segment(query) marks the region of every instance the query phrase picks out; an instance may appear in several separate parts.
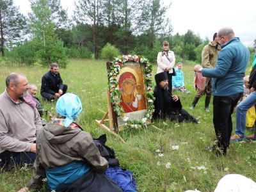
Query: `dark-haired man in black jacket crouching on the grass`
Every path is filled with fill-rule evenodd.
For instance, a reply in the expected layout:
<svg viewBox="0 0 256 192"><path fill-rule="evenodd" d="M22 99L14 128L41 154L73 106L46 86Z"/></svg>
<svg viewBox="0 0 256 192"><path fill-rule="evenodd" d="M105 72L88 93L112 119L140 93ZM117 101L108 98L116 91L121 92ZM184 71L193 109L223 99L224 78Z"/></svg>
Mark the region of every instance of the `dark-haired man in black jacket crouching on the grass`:
<svg viewBox="0 0 256 192"><path fill-rule="evenodd" d="M49 72L42 77L41 95L46 100L54 100L54 96L59 98L67 92L68 86L63 84L58 70L58 64L52 63Z"/></svg>

